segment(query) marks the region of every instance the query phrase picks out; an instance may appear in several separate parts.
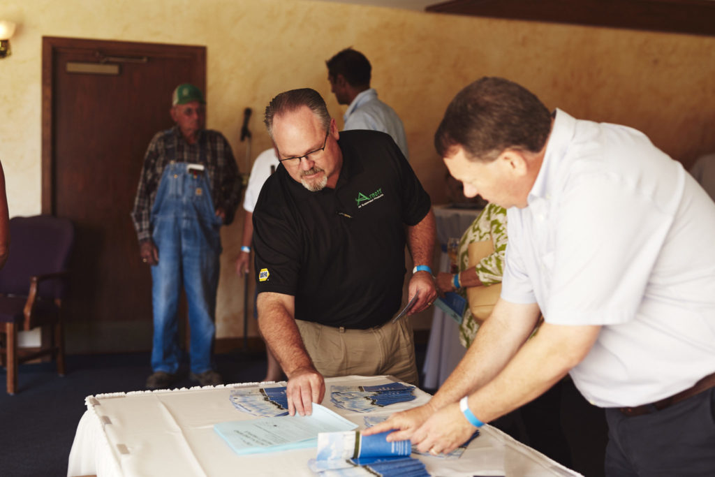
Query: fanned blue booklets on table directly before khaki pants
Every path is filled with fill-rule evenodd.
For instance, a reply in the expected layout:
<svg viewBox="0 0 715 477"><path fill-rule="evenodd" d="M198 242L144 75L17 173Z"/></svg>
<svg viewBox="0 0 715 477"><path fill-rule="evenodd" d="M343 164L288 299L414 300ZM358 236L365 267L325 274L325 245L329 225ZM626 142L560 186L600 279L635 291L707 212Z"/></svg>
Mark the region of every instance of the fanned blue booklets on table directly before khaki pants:
<svg viewBox="0 0 715 477"><path fill-rule="evenodd" d="M335 406L358 413L384 408L390 404L415 399L415 386L388 383L373 386L342 386L330 388L330 400Z"/></svg>

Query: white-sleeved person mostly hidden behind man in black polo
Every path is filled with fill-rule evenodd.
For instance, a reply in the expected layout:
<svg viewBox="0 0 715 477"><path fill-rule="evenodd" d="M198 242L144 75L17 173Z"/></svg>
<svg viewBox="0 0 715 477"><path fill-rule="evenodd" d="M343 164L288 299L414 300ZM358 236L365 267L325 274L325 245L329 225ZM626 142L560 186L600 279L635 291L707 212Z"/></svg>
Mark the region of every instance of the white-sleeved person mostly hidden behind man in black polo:
<svg viewBox="0 0 715 477"><path fill-rule="evenodd" d="M250 272L251 247L253 240L253 210L256 207L258 194L261 192L261 187L265 180L270 177L270 174L275 172L280 162L276 155L275 149L270 148L258 154L253 162L251 174L248 178L245 196L243 198L243 234L241 236L241 251L236 259L236 273L239 275L248 275ZM256 295L257 297L257 295ZM258 318L258 309L253 307L253 316ZM266 375L263 381L279 381L283 378L283 371L280 369L278 360L275 359L270 348L266 346Z"/></svg>

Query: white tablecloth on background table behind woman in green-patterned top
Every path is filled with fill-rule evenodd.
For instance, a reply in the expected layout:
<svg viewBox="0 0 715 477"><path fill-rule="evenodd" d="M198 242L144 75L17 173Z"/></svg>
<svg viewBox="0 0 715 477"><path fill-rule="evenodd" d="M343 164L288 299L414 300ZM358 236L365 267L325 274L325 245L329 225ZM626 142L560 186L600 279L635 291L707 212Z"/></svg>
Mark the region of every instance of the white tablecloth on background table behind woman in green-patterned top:
<svg viewBox="0 0 715 477"><path fill-rule="evenodd" d="M455 209L445 205L435 205L433 210L437 222L437 241L441 249L439 267L435 273L448 272L450 265L446 251L448 239L462 237L481 209ZM462 359L465 351L459 342L459 325L435 307L423 366L425 373L423 386L430 389L439 388Z"/></svg>

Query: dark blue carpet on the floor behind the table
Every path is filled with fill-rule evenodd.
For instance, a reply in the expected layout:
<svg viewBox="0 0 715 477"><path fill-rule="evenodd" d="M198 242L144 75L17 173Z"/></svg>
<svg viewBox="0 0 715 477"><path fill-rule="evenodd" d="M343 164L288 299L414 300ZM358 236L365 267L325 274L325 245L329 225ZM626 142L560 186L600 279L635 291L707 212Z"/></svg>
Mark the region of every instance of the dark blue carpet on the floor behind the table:
<svg viewBox="0 0 715 477"><path fill-rule="evenodd" d="M261 380L265 355L216 355L227 383ZM4 368L0 379L5 382ZM151 373L149 353L71 355L66 375L54 363L19 367L18 392L0 392L0 476L66 476L69 450L82 418L84 398L102 393L143 390ZM177 388L196 383L185 376Z"/></svg>

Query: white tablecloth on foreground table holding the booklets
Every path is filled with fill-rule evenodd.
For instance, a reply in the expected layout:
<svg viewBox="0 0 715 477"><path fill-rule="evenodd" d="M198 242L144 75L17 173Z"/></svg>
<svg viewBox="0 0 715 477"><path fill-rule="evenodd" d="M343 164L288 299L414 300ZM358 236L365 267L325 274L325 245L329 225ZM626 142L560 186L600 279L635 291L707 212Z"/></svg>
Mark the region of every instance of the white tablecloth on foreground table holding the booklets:
<svg viewBox="0 0 715 477"><path fill-rule="evenodd" d="M328 378L322 405L362 429L365 415L389 415L430 399L430 395L415 389L415 400L370 413L346 411L330 402L332 385L391 381L388 376ZM67 475L313 476L307 461L315 458L315 448L237 456L214 432L215 423L254 418L237 410L229 400L231 390L241 386L246 385L89 396L87 412L79 421L69 454ZM439 476L580 475L488 425L458 459L417 457L430 474Z"/></svg>

